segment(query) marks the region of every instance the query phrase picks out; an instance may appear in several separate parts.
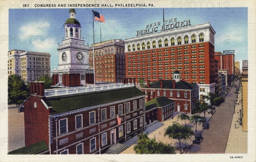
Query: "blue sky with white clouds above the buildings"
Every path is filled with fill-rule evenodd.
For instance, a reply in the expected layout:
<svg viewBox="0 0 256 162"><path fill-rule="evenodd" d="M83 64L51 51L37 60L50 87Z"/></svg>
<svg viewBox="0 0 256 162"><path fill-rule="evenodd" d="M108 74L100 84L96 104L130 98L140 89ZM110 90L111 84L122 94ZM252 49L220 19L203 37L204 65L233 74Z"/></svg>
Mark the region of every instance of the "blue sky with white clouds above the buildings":
<svg viewBox="0 0 256 162"><path fill-rule="evenodd" d="M95 9L94 9L95 10ZM105 16L106 23L95 23L96 42L126 39L145 29L150 23L163 21L162 8L96 9ZM235 49L235 61L247 60L247 8L164 9L166 19L190 19L191 25L209 22L215 30L215 51ZM58 43L64 37L64 23L70 17L69 9L10 9L9 50L22 49L51 54L51 69L58 67ZM89 45L93 42L92 9L76 9L81 24L81 37Z"/></svg>

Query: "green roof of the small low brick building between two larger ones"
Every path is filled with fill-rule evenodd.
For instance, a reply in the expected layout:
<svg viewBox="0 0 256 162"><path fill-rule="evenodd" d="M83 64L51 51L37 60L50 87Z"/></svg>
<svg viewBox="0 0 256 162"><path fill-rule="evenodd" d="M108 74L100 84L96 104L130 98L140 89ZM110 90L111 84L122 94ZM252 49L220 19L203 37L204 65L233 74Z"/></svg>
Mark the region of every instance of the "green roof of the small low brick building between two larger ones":
<svg viewBox="0 0 256 162"><path fill-rule="evenodd" d="M164 107L168 104L172 104L173 102L175 101L169 98L166 98L165 96L160 96L146 102L146 111L153 109L155 107Z"/></svg>

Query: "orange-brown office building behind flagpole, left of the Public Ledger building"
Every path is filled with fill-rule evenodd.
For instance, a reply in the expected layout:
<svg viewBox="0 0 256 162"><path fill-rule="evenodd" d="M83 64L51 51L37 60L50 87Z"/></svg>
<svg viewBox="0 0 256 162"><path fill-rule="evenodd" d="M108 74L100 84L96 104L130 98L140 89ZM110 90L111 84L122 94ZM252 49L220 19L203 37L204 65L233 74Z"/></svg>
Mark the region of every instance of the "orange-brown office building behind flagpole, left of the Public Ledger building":
<svg viewBox="0 0 256 162"><path fill-rule="evenodd" d="M97 82L120 83L125 78L125 42L108 40L94 44ZM93 68L93 45L89 48L89 64Z"/></svg>

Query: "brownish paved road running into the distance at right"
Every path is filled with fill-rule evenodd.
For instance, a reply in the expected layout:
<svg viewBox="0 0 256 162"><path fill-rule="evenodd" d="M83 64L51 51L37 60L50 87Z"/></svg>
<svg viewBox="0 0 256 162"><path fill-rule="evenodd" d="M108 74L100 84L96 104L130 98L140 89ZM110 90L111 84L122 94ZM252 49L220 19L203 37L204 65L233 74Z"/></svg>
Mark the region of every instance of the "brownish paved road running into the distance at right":
<svg viewBox="0 0 256 162"><path fill-rule="evenodd" d="M239 84L236 81L235 84ZM200 145L193 144L187 153L225 153L233 115L234 102L237 94L236 88L232 87L225 97L224 103L217 107L215 114L209 120L210 128L202 130L203 141Z"/></svg>

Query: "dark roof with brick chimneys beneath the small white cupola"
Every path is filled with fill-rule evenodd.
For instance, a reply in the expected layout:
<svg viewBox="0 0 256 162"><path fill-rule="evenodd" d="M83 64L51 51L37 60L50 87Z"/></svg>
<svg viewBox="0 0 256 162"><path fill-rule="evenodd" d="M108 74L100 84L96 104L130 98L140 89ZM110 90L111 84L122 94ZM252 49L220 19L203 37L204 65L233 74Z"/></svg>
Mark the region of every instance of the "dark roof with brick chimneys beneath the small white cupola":
<svg viewBox="0 0 256 162"><path fill-rule="evenodd" d="M163 80L163 89L181 89L181 90L192 90L196 87L197 84L190 84L186 81L177 81L175 83L175 88L172 87L172 80ZM147 85L143 86L143 88L147 88ZM154 81L149 84L149 88L159 88L160 89L160 81Z"/></svg>

